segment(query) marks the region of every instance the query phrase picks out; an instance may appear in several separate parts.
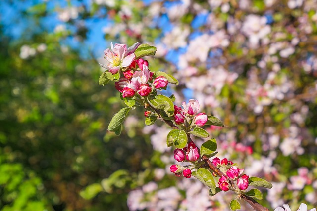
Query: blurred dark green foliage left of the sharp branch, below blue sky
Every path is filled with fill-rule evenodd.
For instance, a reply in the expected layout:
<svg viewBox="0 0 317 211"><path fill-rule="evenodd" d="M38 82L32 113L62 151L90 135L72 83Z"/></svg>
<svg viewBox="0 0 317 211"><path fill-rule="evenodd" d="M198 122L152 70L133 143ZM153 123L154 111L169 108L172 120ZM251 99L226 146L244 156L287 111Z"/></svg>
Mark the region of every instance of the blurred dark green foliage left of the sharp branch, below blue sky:
<svg viewBox="0 0 317 211"><path fill-rule="evenodd" d="M98 85L98 62L46 32L14 42L1 33L0 39L0 209L127 210L125 180L104 182L111 195L84 199L100 191L100 185L86 186L118 169L132 175L152 153L135 133L106 133L123 104L113 98L113 86ZM47 49L21 59L28 42Z"/></svg>

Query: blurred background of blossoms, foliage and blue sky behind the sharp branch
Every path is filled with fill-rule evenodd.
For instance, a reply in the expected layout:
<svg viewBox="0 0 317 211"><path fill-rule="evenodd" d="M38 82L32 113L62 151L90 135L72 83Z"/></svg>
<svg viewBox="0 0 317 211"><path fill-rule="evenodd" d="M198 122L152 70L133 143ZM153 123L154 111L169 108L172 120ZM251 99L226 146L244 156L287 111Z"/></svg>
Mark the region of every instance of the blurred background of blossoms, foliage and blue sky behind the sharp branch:
<svg viewBox="0 0 317 211"><path fill-rule="evenodd" d="M1 0L1 210L229 210L169 172L170 129L141 109L107 132L110 42L158 47L150 69L180 81L163 94L223 120L217 156L272 182L261 204L317 207L317 0Z"/></svg>

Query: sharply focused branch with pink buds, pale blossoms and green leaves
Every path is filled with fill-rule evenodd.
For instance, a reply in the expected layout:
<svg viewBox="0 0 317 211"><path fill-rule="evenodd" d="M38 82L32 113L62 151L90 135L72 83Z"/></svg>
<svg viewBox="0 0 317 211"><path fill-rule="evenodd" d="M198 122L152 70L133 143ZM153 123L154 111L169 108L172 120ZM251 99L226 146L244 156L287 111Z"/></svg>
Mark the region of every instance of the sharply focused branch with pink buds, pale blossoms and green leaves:
<svg viewBox="0 0 317 211"><path fill-rule="evenodd" d="M105 50L107 65L101 64L106 71L101 75L99 84L106 85L109 81L115 81L115 88L120 92L121 99L128 106L122 108L114 115L109 123L108 130L119 135L121 125L128 112L136 106L144 106L146 109L145 124L152 125L156 120L164 121L172 130L167 135L167 147L174 146L174 158L178 162L189 162L190 165L172 165L171 172L176 176L185 178L196 177L210 188L210 196L220 191L231 190L250 204L256 211L268 211L254 199L262 199L262 193L258 189L246 189L252 186L271 188L272 185L264 179L250 177L242 174L244 169L239 169L228 159L213 158L217 152L216 139L211 138L204 142L199 149L191 135L199 138L208 138L209 133L201 128L204 125L224 127L221 120L214 116L199 112L198 100L190 99L183 102L182 108L174 105L174 95L166 97L158 95L157 90L166 89L167 84L178 85L178 81L164 72L151 72L149 63L141 57L154 55L156 47L148 44L135 43L127 48L124 44L111 43L111 49ZM205 167L209 167L206 169ZM217 178L219 177L219 178ZM216 187L215 179L218 180ZM240 209L240 203L233 199L230 202L231 210Z"/></svg>

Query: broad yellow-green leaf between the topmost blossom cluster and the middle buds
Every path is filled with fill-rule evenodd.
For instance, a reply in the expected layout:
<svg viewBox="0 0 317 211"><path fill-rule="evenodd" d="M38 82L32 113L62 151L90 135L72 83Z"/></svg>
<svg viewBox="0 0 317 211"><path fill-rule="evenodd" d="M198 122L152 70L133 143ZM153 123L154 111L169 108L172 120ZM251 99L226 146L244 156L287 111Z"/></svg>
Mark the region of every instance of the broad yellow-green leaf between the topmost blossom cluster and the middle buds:
<svg viewBox="0 0 317 211"><path fill-rule="evenodd" d="M168 117L174 115L174 104L170 98L159 94L154 99L149 99L148 102L153 108L165 111Z"/></svg>

